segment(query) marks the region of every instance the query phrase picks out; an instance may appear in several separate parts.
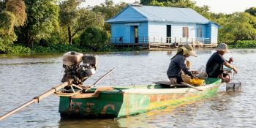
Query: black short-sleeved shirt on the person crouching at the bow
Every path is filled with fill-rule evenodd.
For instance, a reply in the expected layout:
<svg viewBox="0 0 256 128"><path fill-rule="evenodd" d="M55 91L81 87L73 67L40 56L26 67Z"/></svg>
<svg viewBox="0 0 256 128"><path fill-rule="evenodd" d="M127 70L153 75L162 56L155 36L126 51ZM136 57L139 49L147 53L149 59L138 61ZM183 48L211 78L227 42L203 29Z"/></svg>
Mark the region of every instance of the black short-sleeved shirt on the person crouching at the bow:
<svg viewBox="0 0 256 128"><path fill-rule="evenodd" d="M226 60L218 52L212 54L206 64L206 72L209 78L218 78L223 73L223 63Z"/></svg>

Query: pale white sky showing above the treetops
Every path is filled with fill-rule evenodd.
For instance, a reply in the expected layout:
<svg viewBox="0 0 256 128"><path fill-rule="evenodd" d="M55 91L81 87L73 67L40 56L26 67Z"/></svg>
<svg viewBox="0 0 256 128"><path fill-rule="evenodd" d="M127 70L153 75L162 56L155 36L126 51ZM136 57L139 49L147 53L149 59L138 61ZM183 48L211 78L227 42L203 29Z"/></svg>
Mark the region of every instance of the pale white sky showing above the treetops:
<svg viewBox="0 0 256 128"><path fill-rule="evenodd" d="M139 0L113 0L115 3L121 1L132 3ZM244 12L249 7L256 7L256 0L193 0L198 6L208 5L211 12ZM94 6L105 2L105 0L86 0L86 5Z"/></svg>

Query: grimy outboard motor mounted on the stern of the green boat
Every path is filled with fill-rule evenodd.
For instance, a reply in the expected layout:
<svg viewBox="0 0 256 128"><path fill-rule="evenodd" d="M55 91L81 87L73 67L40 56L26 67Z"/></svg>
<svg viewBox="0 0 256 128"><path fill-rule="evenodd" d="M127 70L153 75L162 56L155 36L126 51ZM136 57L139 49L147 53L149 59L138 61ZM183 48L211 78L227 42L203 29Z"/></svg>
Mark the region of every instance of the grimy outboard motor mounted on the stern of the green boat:
<svg viewBox="0 0 256 128"><path fill-rule="evenodd" d="M64 76L62 82L73 79L73 83L80 85L90 76L94 75L97 69L97 56L86 56L83 53L64 53L62 62Z"/></svg>

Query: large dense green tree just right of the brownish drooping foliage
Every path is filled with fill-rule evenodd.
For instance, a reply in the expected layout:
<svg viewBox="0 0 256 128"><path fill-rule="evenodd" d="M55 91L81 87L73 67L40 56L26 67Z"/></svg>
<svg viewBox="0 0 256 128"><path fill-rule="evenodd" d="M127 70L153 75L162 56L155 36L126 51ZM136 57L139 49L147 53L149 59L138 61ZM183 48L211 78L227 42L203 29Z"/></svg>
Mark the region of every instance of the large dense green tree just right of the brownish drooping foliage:
<svg viewBox="0 0 256 128"><path fill-rule="evenodd" d="M18 42L25 42L29 48L40 39L47 39L59 28L59 7L56 0L25 0L27 21L20 27Z"/></svg>

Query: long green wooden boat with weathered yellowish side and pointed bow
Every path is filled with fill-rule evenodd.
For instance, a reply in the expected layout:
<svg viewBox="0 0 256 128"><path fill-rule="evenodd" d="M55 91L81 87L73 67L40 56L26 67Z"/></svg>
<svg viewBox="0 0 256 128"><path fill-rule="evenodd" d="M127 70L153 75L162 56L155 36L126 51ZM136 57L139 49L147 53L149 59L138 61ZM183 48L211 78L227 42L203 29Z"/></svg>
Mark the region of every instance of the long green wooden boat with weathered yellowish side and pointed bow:
<svg viewBox="0 0 256 128"><path fill-rule="evenodd" d="M116 118L181 105L214 97L221 85L218 78L206 79L197 91L180 85L154 83L146 86L98 87L89 91L59 94L61 118Z"/></svg>

